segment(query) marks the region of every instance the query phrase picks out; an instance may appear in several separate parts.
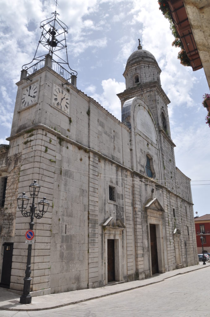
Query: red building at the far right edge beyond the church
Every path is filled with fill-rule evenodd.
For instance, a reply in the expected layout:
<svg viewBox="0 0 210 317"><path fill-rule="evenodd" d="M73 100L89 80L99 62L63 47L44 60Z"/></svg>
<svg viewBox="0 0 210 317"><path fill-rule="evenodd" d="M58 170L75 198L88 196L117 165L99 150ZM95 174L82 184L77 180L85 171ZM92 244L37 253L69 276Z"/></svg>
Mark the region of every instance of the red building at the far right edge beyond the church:
<svg viewBox="0 0 210 317"><path fill-rule="evenodd" d="M210 252L210 214L195 217L194 220L198 254L202 253L201 235L204 252Z"/></svg>

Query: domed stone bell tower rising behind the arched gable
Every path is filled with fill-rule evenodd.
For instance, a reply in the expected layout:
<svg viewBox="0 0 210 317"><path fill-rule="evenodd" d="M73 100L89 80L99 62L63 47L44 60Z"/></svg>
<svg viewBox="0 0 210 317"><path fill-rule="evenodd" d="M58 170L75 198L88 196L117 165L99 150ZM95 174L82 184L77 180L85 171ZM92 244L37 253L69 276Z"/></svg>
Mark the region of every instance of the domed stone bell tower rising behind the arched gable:
<svg viewBox="0 0 210 317"><path fill-rule="evenodd" d="M159 130L163 130L170 137L170 125L167 105L170 103L164 93L160 82L161 69L155 57L147 50L142 49L140 44L138 50L134 51L127 60L123 76L126 80L126 89L117 94L121 101L121 108L126 100L139 97L149 107ZM127 120L125 119L125 124ZM123 118L122 118L123 120Z"/></svg>

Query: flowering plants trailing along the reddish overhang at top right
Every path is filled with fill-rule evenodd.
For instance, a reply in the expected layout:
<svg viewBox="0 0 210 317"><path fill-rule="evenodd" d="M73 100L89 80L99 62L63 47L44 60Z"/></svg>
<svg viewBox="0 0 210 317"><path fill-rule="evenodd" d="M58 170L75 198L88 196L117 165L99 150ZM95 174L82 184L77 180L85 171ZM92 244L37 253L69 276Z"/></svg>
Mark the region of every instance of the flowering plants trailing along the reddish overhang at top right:
<svg viewBox="0 0 210 317"><path fill-rule="evenodd" d="M179 51L177 58L180 59L180 63L183 66L191 66L188 55L183 47L182 41L179 38L179 35L176 31L175 25L173 23L172 17L170 15L168 1L167 0L158 0L159 10L162 11L163 15L170 22L170 30L175 37L175 40L172 42L172 46L180 47L181 51Z"/></svg>

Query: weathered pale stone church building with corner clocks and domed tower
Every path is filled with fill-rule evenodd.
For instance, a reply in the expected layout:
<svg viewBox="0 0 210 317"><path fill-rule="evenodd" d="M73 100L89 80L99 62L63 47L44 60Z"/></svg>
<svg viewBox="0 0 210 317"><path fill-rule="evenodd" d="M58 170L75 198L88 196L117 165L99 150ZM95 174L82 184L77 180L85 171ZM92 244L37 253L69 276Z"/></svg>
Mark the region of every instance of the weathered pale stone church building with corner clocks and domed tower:
<svg viewBox="0 0 210 317"><path fill-rule="evenodd" d="M23 289L29 218L22 217L16 199L24 191L30 196L34 179L50 207L35 219L32 294L100 287L198 264L190 179L175 165L170 100L155 57L139 44L128 58L126 89L118 94L122 122L78 90L75 80L67 86L50 55L30 81L24 72L10 143L0 146L1 286ZM37 88L36 102L25 105L29 86ZM69 113L54 102L56 89L69 96Z"/></svg>

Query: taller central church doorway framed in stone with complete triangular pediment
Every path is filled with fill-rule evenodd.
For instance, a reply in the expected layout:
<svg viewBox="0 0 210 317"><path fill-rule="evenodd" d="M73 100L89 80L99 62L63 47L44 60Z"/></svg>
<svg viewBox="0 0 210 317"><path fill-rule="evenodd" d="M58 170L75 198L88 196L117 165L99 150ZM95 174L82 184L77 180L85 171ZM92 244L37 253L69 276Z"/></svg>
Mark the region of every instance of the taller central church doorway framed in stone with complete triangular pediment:
<svg viewBox="0 0 210 317"><path fill-rule="evenodd" d="M152 199L145 206L147 226L149 231L149 264L150 275L165 272L164 262L164 209L157 198Z"/></svg>

